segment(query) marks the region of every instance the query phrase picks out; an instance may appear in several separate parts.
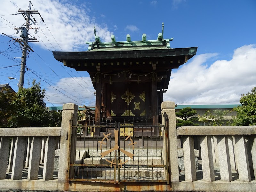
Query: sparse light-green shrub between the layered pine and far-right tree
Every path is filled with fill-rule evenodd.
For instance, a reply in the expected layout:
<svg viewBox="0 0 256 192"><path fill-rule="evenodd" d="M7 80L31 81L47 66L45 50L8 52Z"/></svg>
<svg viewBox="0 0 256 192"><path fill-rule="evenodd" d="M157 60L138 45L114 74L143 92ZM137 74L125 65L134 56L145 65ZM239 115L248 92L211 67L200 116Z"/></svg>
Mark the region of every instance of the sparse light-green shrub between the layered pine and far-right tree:
<svg viewBox="0 0 256 192"><path fill-rule="evenodd" d="M212 112L211 110L206 111L203 116L199 117L198 121L203 122L206 126L230 125L232 123L227 118L228 113L230 113L229 110L214 109Z"/></svg>

